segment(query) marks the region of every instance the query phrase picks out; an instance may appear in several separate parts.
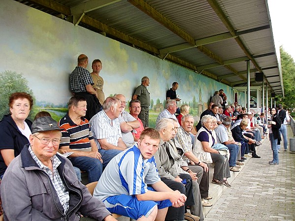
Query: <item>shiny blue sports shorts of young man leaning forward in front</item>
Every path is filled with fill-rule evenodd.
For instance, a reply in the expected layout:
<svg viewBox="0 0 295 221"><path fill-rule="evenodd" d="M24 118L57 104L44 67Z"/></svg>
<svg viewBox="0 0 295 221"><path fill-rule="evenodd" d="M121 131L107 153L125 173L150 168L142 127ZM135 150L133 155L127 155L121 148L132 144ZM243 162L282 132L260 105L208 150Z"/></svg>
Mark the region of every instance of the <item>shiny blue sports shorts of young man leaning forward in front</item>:
<svg viewBox="0 0 295 221"><path fill-rule="evenodd" d="M148 187L148 190L154 191L150 187ZM116 213L124 217L130 217L134 220L138 220L142 216L148 217L155 206L158 206L158 209L172 206L172 203L169 199L162 201L139 201L135 195L125 194L109 196L104 200L104 204L110 213Z"/></svg>

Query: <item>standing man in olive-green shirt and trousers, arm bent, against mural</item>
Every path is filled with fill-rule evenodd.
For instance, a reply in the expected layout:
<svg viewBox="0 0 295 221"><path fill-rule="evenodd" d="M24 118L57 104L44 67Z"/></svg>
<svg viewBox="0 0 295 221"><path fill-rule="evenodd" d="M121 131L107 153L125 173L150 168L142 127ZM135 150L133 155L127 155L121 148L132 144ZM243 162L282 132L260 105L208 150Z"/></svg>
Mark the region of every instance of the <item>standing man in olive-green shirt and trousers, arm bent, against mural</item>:
<svg viewBox="0 0 295 221"><path fill-rule="evenodd" d="M141 102L141 111L138 117L142 120L145 128L148 128L148 113L150 106L150 97L147 86L149 86L149 79L145 76L142 78L141 85L136 88L132 97L132 100L139 100Z"/></svg>

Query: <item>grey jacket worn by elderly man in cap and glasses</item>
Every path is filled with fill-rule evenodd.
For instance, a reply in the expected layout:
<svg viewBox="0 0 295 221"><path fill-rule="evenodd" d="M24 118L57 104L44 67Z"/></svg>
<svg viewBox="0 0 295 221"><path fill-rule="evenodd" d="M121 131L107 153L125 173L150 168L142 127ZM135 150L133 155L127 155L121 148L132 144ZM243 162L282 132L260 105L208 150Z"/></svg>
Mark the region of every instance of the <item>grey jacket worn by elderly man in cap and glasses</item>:
<svg viewBox="0 0 295 221"><path fill-rule="evenodd" d="M61 161L58 171L70 194L64 214L49 176L37 166L28 147L10 163L2 179L4 221L79 221L81 214L101 221L110 215L104 203L78 180L71 162L57 155Z"/></svg>

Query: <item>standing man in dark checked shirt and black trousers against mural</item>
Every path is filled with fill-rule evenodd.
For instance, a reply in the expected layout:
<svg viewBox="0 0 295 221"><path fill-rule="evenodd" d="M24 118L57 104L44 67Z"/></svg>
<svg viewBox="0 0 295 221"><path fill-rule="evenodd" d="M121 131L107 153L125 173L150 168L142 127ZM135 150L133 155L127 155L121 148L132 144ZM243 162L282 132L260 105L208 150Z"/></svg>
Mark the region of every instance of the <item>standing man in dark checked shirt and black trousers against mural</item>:
<svg viewBox="0 0 295 221"><path fill-rule="evenodd" d="M89 71L86 69L87 65L88 57L83 54L79 55L78 65L70 74L70 86L74 95L79 95L86 99L88 107L85 118L90 120L102 108L98 100L98 94L92 87L94 83Z"/></svg>

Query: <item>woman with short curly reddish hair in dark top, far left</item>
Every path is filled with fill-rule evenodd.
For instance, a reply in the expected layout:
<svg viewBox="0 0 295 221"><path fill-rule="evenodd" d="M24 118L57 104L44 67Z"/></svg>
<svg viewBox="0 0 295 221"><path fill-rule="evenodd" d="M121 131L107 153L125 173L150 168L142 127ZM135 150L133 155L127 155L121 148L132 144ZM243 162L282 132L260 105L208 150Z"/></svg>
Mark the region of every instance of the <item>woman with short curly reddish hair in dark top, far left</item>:
<svg viewBox="0 0 295 221"><path fill-rule="evenodd" d="M10 162L29 143L32 122L27 119L33 106L32 97L24 92L16 92L9 97L9 115L0 122L0 178Z"/></svg>

